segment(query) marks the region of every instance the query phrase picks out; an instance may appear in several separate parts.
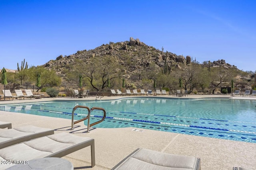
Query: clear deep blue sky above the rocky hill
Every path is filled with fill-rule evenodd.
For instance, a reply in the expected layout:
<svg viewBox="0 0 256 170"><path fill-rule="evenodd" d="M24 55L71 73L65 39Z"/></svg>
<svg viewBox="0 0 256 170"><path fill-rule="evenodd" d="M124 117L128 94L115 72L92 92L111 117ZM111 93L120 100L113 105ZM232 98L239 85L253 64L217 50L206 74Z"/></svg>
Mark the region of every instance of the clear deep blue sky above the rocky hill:
<svg viewBox="0 0 256 170"><path fill-rule="evenodd" d="M256 70L255 0L0 0L0 68L17 69L130 37Z"/></svg>

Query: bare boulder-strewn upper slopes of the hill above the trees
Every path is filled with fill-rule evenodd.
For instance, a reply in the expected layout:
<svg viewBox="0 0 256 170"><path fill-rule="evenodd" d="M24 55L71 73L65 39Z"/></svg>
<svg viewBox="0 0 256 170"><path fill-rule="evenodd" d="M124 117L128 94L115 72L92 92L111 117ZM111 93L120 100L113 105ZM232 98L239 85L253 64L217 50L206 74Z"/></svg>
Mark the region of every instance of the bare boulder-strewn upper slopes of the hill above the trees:
<svg viewBox="0 0 256 170"><path fill-rule="evenodd" d="M154 64L154 66L160 71L164 67L165 59L168 69L172 67L182 69L182 66L193 62L190 56L184 57L171 52L164 52L164 49L160 51L159 49L146 45L138 38L134 39L133 37L130 37L130 41L118 43L110 42L109 44L103 44L100 47L96 47L95 49L88 51L77 51L77 53L73 55L65 57L60 55L56 60L51 60L44 64L44 66L48 69L56 70L57 74L62 74L62 70L66 69L68 64L74 65L76 59L82 59L86 62L87 60L90 60L90 58L104 55L114 56L118 63L124 66L124 70L122 71L127 76L134 72L149 69L150 64ZM212 67L220 65L225 68L236 68L236 66L226 63L223 59L210 62L210 66Z"/></svg>

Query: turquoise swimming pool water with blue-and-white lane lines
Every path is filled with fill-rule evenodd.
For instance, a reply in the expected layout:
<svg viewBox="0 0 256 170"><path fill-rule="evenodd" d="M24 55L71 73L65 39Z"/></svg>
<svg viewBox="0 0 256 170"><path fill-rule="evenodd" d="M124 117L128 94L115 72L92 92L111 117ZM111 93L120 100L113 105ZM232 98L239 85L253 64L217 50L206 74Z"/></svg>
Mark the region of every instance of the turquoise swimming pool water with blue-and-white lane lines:
<svg viewBox="0 0 256 170"><path fill-rule="evenodd" d="M256 143L256 100L124 98L12 104L0 106L0 110L71 120L77 105L106 110L106 119L93 127L135 127ZM87 110L79 108L74 119L86 115ZM93 123L102 118L103 112L93 111L91 115Z"/></svg>

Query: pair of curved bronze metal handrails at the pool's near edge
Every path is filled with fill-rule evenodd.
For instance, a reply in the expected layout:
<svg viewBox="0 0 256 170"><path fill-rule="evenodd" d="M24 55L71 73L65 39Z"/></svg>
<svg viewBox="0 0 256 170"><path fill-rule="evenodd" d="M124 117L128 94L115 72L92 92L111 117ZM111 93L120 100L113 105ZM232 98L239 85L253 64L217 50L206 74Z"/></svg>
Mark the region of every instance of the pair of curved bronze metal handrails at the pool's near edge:
<svg viewBox="0 0 256 170"><path fill-rule="evenodd" d="M74 122L74 112L75 112L75 110L76 110L77 108L84 108L84 109L87 109L87 110L88 110L88 115L87 115L85 118L82 118L82 119L80 119L80 120ZM103 113L104 113L104 115L103 115L103 117L102 117L101 120L96 121L96 122L90 124L90 115L91 115L91 112L92 112L93 110L102 110ZM92 127L93 125L96 125L96 124L98 124L98 123L104 121L105 117L106 117L106 111L105 111L105 109L103 109L103 108L101 108L101 107L92 107L92 108L90 109L90 108L87 107L87 106L75 106L75 107L73 108L73 111L72 111L72 122L71 122L72 124L71 124L71 129L74 130L74 124L79 123L79 122L81 122L81 121L84 121L84 120L88 119L87 131L86 131L86 133L89 133L89 132L90 132L90 131L89 131L90 127Z"/></svg>

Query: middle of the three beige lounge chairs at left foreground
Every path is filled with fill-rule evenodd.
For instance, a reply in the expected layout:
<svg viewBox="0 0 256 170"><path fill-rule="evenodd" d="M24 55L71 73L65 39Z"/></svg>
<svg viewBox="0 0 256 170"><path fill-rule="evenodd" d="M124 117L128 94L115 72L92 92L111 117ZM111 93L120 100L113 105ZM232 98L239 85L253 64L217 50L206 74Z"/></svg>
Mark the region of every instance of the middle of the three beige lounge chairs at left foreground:
<svg viewBox="0 0 256 170"><path fill-rule="evenodd" d="M4 129L0 131L0 149L52 134L54 134L53 129L35 127L32 125Z"/></svg>

